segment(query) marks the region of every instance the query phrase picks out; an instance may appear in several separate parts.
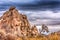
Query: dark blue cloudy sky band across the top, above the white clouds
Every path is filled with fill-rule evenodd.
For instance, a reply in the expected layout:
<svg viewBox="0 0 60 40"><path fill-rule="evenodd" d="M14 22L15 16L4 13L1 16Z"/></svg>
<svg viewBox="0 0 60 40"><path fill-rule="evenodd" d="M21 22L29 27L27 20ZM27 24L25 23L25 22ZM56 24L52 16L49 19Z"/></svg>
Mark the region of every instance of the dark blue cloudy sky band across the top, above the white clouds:
<svg viewBox="0 0 60 40"><path fill-rule="evenodd" d="M59 10L60 0L0 0L0 10L12 5L22 10Z"/></svg>

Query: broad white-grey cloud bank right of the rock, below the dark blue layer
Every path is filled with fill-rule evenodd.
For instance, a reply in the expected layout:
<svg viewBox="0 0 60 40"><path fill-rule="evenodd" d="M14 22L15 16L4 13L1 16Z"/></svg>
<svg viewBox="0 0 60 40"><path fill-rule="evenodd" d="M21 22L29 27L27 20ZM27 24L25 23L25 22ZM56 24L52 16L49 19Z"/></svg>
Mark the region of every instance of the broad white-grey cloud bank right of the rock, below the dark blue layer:
<svg viewBox="0 0 60 40"><path fill-rule="evenodd" d="M31 24L59 24L60 12L54 13L53 11L22 11L28 15Z"/></svg>

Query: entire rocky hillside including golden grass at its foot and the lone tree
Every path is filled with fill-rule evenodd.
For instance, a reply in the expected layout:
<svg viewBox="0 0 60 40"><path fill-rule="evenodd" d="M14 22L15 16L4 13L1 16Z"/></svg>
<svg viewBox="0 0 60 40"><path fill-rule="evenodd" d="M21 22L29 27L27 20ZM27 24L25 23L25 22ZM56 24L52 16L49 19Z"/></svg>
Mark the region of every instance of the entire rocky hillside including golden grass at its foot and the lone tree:
<svg viewBox="0 0 60 40"><path fill-rule="evenodd" d="M42 31L49 32L44 24ZM13 6L0 17L0 40L60 40L60 31L47 36L41 32L35 25L31 27L27 16Z"/></svg>

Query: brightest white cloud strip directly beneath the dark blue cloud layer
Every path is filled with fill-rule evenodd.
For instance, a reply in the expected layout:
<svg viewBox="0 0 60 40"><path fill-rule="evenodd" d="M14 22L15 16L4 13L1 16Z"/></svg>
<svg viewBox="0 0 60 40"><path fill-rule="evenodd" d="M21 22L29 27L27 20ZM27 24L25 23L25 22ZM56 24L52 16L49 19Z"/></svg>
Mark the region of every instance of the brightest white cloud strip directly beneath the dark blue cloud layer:
<svg viewBox="0 0 60 40"><path fill-rule="evenodd" d="M30 14L31 17L42 17L42 18L52 18L60 19L60 12L54 13L53 11L21 11L25 14Z"/></svg>

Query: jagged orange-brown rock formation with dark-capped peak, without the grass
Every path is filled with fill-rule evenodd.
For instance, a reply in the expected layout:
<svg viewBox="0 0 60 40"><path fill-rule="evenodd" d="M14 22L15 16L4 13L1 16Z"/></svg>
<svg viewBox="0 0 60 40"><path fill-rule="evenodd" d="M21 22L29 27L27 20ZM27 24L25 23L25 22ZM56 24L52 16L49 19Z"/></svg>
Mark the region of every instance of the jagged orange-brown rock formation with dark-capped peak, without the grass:
<svg viewBox="0 0 60 40"><path fill-rule="evenodd" d="M35 32L35 34L38 32L35 26L32 31L27 16L20 14L16 7L13 6L0 17L0 30L4 31L8 39L12 35L24 37L31 36L32 32Z"/></svg>

